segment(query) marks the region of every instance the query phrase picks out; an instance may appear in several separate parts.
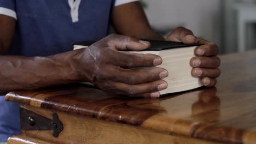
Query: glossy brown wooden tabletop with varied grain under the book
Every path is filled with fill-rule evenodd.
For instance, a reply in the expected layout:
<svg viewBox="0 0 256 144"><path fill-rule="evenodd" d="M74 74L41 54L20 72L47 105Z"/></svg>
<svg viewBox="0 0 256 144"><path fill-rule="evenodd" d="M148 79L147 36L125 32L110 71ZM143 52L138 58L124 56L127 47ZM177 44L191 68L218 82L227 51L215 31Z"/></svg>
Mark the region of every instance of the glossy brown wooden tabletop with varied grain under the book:
<svg viewBox="0 0 256 144"><path fill-rule="evenodd" d="M221 56L216 88L159 99L108 95L80 85L11 92L6 100L195 139L256 143L256 51Z"/></svg>

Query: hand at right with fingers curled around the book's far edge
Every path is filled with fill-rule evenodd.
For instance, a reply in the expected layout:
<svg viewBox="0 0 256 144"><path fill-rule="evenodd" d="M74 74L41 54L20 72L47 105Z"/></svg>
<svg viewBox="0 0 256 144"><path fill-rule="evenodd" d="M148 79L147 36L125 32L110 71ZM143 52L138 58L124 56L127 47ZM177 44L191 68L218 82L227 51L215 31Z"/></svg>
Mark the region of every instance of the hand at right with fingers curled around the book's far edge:
<svg viewBox="0 0 256 144"><path fill-rule="evenodd" d="M183 42L185 44L203 44L196 47L196 57L190 60L190 65L193 67L191 74L194 77L200 77L202 84L207 87L216 85L216 78L220 75L220 70L218 69L220 59L217 57L219 50L216 44L204 39L196 38L193 32L184 27L174 29L174 31L168 35L166 40Z"/></svg>

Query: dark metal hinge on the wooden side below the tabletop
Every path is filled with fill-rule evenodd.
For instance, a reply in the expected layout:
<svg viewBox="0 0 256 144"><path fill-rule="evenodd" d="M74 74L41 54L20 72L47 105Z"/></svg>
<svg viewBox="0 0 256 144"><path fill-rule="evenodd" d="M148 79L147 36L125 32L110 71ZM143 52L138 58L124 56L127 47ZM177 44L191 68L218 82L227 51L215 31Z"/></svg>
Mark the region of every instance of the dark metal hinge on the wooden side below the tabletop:
<svg viewBox="0 0 256 144"><path fill-rule="evenodd" d="M54 137L57 137L63 130L63 124L57 113L53 113L53 119L49 119L21 107L20 123L21 130L53 130Z"/></svg>

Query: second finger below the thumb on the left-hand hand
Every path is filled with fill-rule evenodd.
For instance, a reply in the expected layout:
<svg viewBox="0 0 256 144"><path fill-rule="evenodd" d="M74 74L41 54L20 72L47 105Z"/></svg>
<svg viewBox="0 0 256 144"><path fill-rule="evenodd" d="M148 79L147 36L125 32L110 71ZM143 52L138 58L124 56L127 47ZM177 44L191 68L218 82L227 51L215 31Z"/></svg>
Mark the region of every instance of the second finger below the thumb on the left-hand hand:
<svg viewBox="0 0 256 144"><path fill-rule="evenodd" d="M107 67L104 71L107 72L102 72L98 79L112 80L129 85L157 81L168 76L167 70L162 68L131 70L119 67ZM109 75L109 73L113 75Z"/></svg>

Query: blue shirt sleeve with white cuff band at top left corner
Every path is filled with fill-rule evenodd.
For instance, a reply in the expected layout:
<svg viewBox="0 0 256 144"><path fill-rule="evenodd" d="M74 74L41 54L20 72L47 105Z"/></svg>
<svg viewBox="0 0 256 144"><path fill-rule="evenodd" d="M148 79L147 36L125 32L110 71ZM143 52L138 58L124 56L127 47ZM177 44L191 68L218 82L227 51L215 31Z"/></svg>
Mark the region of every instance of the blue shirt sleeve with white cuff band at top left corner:
<svg viewBox="0 0 256 144"><path fill-rule="evenodd" d="M13 17L17 20L15 0L0 0L0 14Z"/></svg>

